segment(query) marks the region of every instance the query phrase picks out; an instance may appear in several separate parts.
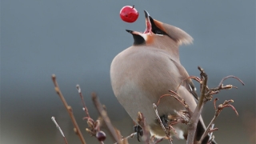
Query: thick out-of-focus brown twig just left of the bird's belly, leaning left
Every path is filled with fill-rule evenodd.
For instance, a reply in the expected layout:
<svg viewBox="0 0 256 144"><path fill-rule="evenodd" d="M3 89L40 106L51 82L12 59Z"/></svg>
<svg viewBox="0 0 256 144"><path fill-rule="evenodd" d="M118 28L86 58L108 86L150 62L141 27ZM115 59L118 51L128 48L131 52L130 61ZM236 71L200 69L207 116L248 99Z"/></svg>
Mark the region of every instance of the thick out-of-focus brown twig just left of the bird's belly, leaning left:
<svg viewBox="0 0 256 144"><path fill-rule="evenodd" d="M110 118L106 114L106 110L103 109L101 102L99 102L97 95L93 93L92 99L94 102L94 106L98 110L98 113L102 116L103 121L106 123L106 126L107 126L108 130L110 131L112 138L114 138L115 142L122 143L121 139L119 138L118 134L116 133L114 126L110 122Z"/></svg>

